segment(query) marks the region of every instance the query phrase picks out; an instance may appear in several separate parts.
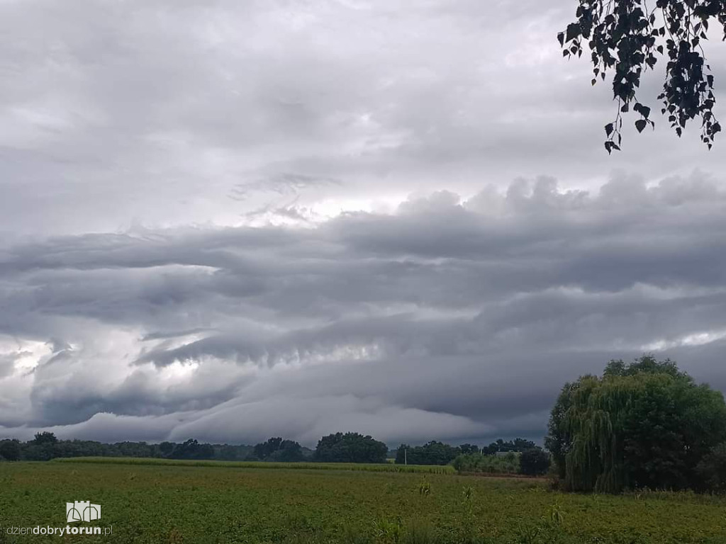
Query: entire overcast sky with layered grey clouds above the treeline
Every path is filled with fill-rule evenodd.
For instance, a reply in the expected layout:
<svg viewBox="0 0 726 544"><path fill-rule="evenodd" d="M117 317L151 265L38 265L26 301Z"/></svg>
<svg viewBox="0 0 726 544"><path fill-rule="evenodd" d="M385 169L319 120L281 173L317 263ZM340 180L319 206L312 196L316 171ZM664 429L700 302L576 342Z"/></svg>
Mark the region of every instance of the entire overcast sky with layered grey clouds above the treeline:
<svg viewBox="0 0 726 544"><path fill-rule="evenodd" d="M726 141L608 157L575 7L1 0L0 434L541 440L644 352L726 390Z"/></svg>

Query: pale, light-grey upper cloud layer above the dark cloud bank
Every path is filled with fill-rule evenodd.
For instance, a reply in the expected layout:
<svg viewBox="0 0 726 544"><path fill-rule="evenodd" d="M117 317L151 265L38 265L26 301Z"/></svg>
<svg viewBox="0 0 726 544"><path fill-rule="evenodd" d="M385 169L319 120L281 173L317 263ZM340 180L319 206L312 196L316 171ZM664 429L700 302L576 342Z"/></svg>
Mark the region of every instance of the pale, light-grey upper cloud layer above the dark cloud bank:
<svg viewBox="0 0 726 544"><path fill-rule="evenodd" d="M234 224L281 191L305 205L442 183L473 194L542 172L596 186L613 168L601 140L614 108L587 62L558 51L573 12L571 0L3 2L0 232ZM709 55L726 80L726 51ZM653 107L659 84L643 83ZM631 127L617 165L649 180L722 171L726 155L696 133L676 144L664 123L639 138Z"/></svg>

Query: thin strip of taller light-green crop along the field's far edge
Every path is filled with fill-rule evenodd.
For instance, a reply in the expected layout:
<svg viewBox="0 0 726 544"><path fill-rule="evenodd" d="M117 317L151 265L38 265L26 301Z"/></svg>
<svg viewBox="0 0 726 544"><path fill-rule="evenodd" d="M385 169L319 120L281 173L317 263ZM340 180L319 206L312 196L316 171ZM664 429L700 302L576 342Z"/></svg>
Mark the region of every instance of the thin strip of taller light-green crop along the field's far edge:
<svg viewBox="0 0 726 544"><path fill-rule="evenodd" d="M96 463L112 465L168 465L216 466L228 469L291 469L291 470L346 470L365 472L415 472L423 474L454 474L454 467L446 465L395 465L392 463L265 463L264 461L189 461L187 459L131 458L131 457L69 457L57 458L53 463Z"/></svg>

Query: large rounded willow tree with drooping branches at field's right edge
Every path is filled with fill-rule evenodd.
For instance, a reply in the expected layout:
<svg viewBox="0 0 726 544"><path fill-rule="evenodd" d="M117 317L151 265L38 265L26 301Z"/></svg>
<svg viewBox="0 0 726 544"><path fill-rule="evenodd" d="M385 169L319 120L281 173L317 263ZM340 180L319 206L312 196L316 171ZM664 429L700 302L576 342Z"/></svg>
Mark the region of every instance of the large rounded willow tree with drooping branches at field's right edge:
<svg viewBox="0 0 726 544"><path fill-rule="evenodd" d="M697 487L696 466L726 440L726 403L672 361L612 361L603 376L566 384L545 440L563 487Z"/></svg>

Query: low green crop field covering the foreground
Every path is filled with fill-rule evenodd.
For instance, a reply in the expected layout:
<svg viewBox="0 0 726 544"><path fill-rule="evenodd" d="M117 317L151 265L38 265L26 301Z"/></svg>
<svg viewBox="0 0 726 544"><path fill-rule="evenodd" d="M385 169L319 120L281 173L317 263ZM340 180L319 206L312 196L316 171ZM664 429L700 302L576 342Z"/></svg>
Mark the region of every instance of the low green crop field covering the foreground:
<svg viewBox="0 0 726 544"><path fill-rule="evenodd" d="M724 498L568 495L527 479L340 466L187 464L1 463L0 543L726 543ZM113 527L113 535L7 534L65 527L73 500L101 505L102 519L81 525Z"/></svg>

